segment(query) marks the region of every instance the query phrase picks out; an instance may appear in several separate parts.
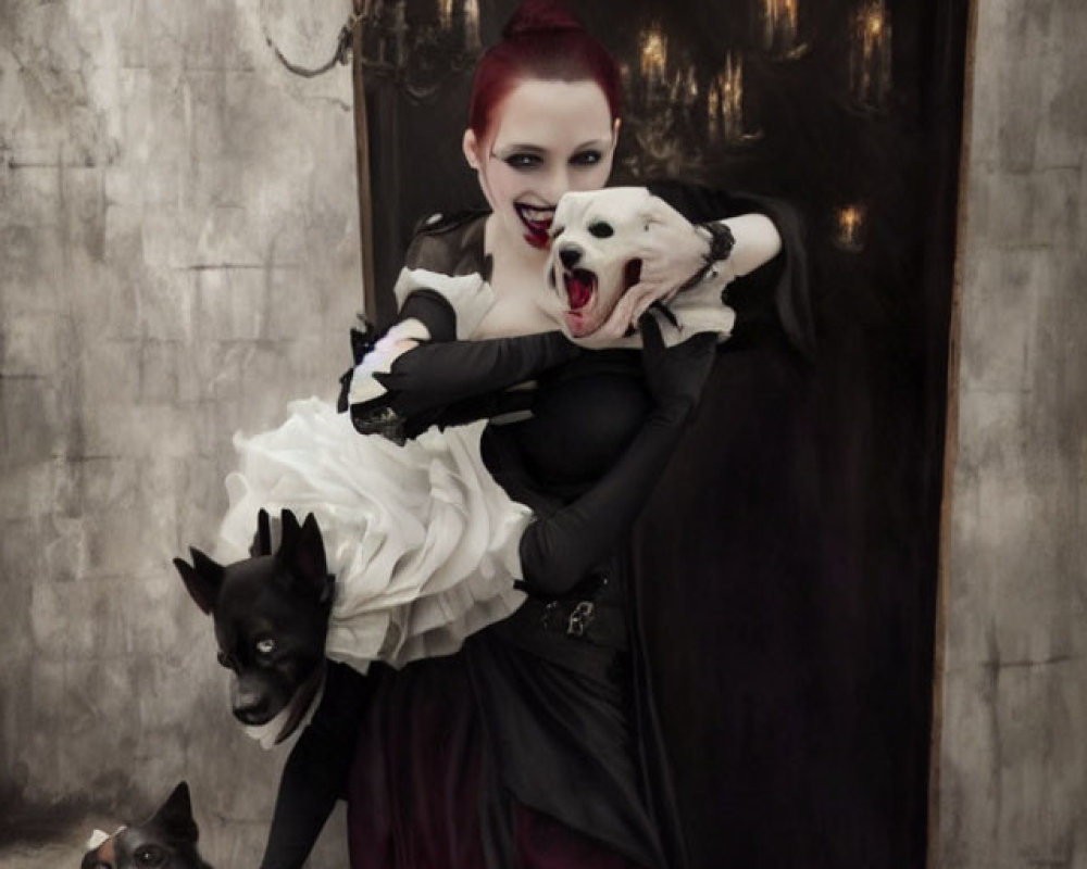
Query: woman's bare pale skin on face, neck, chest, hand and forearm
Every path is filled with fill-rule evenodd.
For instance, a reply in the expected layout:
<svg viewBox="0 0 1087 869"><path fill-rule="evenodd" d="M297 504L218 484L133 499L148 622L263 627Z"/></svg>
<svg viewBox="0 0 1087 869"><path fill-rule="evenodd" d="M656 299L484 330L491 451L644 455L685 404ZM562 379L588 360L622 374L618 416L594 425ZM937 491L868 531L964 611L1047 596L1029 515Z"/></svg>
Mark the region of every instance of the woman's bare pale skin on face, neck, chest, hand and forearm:
<svg viewBox="0 0 1087 869"><path fill-rule="evenodd" d="M598 190L611 174L620 119L592 80L526 78L500 102L484 136L472 129L462 141L491 207L484 244L492 257L495 304L473 338L550 331L555 323L537 300L550 292L546 267L550 217L567 191ZM650 231L641 239L638 284L630 287L604 324L578 343L608 347L636 325L658 300L672 298L704 265L710 239L661 200L653 200ZM724 221L736 244L730 254L737 275L773 259L782 240L761 214ZM414 341L398 344L408 350Z"/></svg>

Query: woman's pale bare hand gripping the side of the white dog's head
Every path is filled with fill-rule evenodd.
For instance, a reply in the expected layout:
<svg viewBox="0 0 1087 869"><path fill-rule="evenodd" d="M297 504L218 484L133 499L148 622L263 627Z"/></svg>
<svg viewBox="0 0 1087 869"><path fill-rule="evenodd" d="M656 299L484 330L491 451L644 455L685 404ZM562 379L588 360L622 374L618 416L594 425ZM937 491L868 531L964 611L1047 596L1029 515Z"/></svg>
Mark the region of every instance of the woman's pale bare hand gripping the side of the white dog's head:
<svg viewBox="0 0 1087 869"><path fill-rule="evenodd" d="M616 312L621 306L628 310L629 326L637 325L654 302L675 295L705 266L710 240L667 202L653 197L636 251L641 259L641 275L616 305Z"/></svg>

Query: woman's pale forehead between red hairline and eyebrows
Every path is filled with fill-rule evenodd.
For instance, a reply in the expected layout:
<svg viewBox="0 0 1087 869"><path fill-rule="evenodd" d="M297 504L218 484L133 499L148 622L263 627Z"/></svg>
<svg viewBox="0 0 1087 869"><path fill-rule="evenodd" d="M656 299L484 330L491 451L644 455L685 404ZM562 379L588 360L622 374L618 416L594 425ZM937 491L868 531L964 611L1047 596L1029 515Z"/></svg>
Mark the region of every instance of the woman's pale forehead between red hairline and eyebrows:
<svg viewBox="0 0 1087 869"><path fill-rule="evenodd" d="M573 148L590 141L608 143L611 110L596 81L520 81L498 105L495 148L533 146Z"/></svg>

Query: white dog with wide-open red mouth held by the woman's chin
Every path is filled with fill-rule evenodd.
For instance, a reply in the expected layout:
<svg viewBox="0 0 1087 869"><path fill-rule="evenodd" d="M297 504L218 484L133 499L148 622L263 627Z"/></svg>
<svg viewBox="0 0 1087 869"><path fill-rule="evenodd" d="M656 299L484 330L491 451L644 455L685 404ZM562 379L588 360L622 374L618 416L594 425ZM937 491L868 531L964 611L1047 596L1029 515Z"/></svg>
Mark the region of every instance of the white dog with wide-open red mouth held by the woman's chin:
<svg viewBox="0 0 1087 869"><path fill-rule="evenodd" d="M662 204L645 187L565 193L559 200L547 276L554 292L542 305L572 340L599 329L623 293L638 282L640 236L651 231ZM736 314L721 294L736 275L732 259L725 260L694 287L663 303L671 314L658 317L664 342L676 344L702 331L726 339ZM639 344L640 338L634 335L619 345Z"/></svg>

